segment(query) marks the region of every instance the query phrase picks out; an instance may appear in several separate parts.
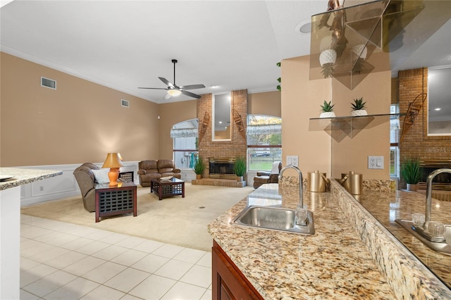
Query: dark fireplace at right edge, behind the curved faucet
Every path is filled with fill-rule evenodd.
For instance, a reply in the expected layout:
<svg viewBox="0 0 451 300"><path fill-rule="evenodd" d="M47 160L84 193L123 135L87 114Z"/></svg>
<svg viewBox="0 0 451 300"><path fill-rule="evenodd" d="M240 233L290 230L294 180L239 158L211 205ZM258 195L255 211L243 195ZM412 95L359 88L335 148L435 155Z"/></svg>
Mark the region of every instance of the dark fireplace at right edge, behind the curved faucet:
<svg viewBox="0 0 451 300"><path fill-rule="evenodd" d="M440 168L451 168L451 160L447 159L424 159L420 161L421 180L420 189L426 189L426 181L429 174ZM451 174L441 173L432 181L433 190L451 191Z"/></svg>

